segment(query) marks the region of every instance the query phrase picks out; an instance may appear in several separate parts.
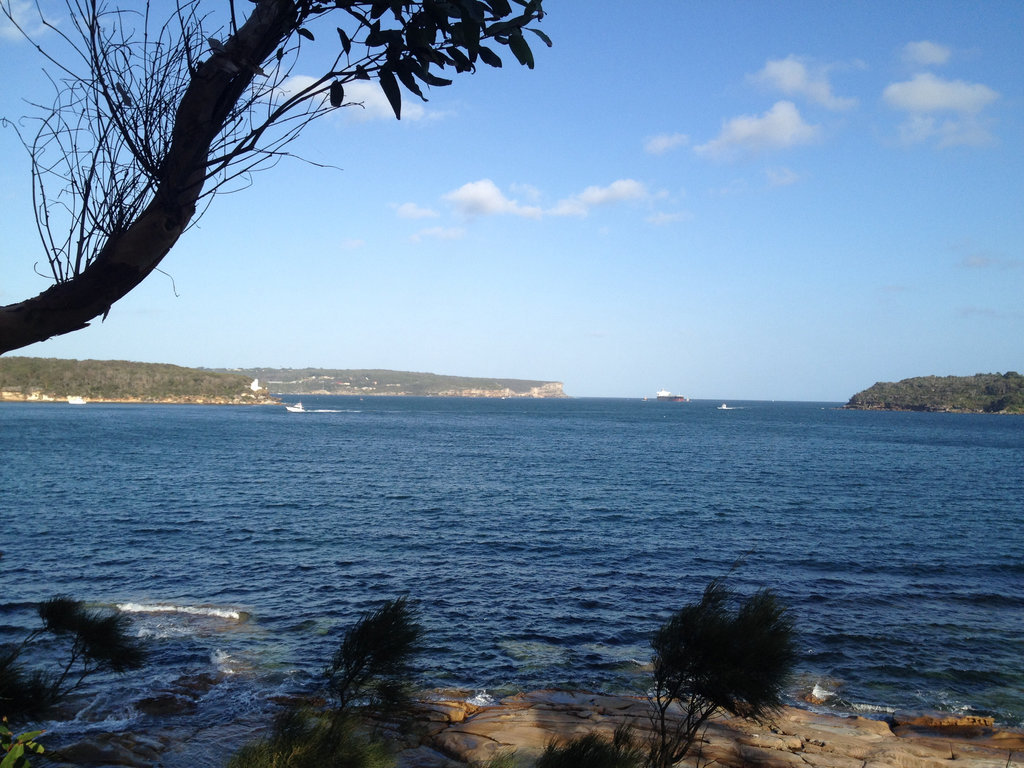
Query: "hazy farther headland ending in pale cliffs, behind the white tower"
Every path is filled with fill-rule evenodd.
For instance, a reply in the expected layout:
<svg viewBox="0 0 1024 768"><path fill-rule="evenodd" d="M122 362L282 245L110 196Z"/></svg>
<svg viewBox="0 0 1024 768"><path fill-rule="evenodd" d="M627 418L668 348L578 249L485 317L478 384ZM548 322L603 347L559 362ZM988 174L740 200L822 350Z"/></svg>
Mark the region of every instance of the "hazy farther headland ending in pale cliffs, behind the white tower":
<svg viewBox="0 0 1024 768"><path fill-rule="evenodd" d="M259 379L274 394L407 395L418 397L565 397L559 381L484 379L408 371L322 368L215 369Z"/></svg>

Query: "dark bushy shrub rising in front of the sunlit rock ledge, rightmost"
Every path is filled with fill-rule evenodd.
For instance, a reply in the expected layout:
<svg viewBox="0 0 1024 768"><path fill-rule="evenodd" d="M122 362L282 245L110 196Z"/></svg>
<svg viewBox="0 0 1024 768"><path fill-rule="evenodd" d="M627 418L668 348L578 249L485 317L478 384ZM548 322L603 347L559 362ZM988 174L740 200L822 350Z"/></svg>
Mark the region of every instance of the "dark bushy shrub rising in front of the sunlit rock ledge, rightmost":
<svg viewBox="0 0 1024 768"><path fill-rule="evenodd" d="M719 711L755 720L777 711L796 660L795 634L773 592L738 599L721 580L673 613L651 639L650 764L682 760Z"/></svg>

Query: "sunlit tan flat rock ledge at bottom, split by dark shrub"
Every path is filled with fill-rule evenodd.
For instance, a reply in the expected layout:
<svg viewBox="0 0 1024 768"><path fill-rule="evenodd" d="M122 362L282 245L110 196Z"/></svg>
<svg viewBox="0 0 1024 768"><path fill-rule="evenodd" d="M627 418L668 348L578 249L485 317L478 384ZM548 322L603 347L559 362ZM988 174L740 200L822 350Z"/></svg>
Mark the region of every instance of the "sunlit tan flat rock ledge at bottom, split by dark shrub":
<svg viewBox="0 0 1024 768"><path fill-rule="evenodd" d="M641 737L650 730L647 701L630 696L544 690L486 707L437 696L425 707L426 732L400 753L399 768L459 768L507 752L518 766L530 766L551 741L595 731L610 738L623 723ZM887 722L785 708L770 725L713 721L681 765L1021 768L1024 760L1012 754L1021 751L1024 733L997 730L988 718L913 715Z"/></svg>

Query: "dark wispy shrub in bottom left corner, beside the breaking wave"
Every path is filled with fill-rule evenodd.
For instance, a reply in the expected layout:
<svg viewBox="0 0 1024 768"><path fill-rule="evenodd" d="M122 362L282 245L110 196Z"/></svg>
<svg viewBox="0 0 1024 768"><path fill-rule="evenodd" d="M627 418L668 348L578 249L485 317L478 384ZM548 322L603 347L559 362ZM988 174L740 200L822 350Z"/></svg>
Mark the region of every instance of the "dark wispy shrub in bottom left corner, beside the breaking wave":
<svg viewBox="0 0 1024 768"><path fill-rule="evenodd" d="M0 713L12 720L42 714L97 672L121 674L142 665L144 653L129 637L123 613L90 609L65 595L37 610L42 627L0 649ZM57 656L49 669L26 667L27 651L44 637L55 642Z"/></svg>

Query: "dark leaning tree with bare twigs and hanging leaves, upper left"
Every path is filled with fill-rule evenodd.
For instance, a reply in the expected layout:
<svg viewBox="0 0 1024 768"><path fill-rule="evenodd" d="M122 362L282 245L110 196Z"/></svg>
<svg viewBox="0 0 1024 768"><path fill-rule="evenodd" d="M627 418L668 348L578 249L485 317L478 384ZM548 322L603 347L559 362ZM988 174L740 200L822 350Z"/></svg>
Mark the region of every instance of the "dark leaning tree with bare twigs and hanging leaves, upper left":
<svg viewBox="0 0 1024 768"><path fill-rule="evenodd" d="M54 285L0 307L0 353L105 316L211 196L289 155L313 120L357 105L352 83L376 81L400 118L403 92L425 99L481 62L501 67L505 49L532 68L527 33L551 43L531 26L542 0L254 0L245 17L230 1L223 18L210 0L163 16L155 3L65 2L61 24L37 5L59 41L34 41L55 96L34 133L17 129ZM24 30L20 5L0 0L0 13Z"/></svg>

